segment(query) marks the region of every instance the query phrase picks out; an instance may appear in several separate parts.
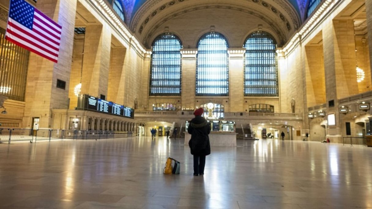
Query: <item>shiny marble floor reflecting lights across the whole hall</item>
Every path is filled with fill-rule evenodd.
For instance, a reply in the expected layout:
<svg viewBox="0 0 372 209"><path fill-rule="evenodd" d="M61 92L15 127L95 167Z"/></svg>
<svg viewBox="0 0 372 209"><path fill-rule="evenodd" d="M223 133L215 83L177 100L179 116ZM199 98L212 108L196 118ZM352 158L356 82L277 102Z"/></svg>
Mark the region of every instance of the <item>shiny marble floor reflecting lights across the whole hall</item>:
<svg viewBox="0 0 372 209"><path fill-rule="evenodd" d="M0 144L0 208L372 208L372 148L311 141L212 147L193 176L183 139ZM181 173L163 174L167 157Z"/></svg>

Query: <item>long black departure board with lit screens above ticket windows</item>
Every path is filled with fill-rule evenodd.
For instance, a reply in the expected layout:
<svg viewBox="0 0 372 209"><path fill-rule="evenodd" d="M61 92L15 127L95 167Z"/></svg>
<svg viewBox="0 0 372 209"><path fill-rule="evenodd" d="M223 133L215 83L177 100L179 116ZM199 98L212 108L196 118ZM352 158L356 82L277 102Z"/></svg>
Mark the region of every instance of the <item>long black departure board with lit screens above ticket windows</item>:
<svg viewBox="0 0 372 209"><path fill-rule="evenodd" d="M97 97L92 97L88 94L79 96L77 109L92 110L101 113L123 116L125 118L134 118L134 109L99 99Z"/></svg>

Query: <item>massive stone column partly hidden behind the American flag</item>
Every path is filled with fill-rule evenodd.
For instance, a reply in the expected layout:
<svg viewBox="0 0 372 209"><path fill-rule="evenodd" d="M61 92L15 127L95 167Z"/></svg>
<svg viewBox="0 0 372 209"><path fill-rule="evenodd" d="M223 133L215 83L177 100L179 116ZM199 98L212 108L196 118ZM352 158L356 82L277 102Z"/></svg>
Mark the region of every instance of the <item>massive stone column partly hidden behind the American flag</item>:
<svg viewBox="0 0 372 209"><path fill-rule="evenodd" d="M58 89L57 79L69 83L77 0L38 0L36 7L62 26L58 63L30 53L23 127L39 117L39 128L52 127L51 109L68 108L68 87Z"/></svg>

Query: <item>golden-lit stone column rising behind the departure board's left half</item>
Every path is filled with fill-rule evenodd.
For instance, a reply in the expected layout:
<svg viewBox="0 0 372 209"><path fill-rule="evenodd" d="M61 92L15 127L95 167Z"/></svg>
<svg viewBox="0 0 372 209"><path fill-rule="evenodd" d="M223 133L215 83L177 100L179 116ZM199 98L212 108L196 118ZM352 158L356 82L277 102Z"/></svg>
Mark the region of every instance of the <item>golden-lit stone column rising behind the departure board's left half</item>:
<svg viewBox="0 0 372 209"><path fill-rule="evenodd" d="M107 97L111 33L102 25L87 25L85 30L81 93Z"/></svg>

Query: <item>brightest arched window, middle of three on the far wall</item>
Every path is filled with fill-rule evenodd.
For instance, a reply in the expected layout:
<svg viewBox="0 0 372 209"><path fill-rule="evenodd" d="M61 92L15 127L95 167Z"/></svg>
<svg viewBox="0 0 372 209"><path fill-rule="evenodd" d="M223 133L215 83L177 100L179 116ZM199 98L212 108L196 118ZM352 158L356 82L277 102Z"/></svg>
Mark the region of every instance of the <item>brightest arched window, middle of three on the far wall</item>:
<svg viewBox="0 0 372 209"><path fill-rule="evenodd" d="M224 36L209 32L198 42L196 96L228 96L228 43Z"/></svg>

